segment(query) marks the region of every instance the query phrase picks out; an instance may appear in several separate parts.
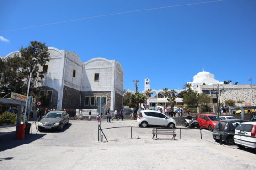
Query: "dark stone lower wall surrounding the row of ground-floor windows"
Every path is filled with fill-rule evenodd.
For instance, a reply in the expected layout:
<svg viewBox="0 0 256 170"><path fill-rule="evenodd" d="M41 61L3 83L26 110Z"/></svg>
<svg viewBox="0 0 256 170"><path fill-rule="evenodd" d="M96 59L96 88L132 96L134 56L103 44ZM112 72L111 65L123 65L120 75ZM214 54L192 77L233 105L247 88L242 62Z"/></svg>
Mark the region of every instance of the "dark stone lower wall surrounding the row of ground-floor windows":
<svg viewBox="0 0 256 170"><path fill-rule="evenodd" d="M102 106L104 108L104 112L106 112L106 110L108 108L110 108L110 101L111 101L111 91L88 91L88 92L82 92L82 99L81 99L81 108L82 109L97 109L98 106L96 105L96 101L95 101L95 105L94 106L85 106L85 96L95 96L95 99L97 96L107 96L107 104L106 106ZM103 112L103 111L102 111Z"/></svg>

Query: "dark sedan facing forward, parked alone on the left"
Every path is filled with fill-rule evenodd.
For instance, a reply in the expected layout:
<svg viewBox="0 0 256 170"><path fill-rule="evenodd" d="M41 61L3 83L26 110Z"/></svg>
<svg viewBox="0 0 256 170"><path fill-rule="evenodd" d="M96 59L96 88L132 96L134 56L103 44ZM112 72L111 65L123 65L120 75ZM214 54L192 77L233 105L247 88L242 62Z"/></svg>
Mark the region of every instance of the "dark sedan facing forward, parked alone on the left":
<svg viewBox="0 0 256 170"><path fill-rule="evenodd" d="M69 124L69 115L64 111L50 111L38 122L38 131L44 129L62 130L63 126Z"/></svg>

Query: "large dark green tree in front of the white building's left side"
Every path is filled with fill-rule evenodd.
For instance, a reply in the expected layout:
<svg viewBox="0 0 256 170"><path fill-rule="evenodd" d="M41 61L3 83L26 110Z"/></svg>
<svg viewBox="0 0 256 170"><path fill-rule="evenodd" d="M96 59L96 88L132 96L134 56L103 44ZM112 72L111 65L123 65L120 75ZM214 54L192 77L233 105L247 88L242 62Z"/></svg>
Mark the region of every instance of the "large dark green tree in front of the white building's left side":
<svg viewBox="0 0 256 170"><path fill-rule="evenodd" d="M39 71L39 67L43 67L49 61L50 53L45 43L38 41L31 41L26 48L21 46L20 53L21 56L14 55L4 61L5 69L2 71L1 85L26 94L31 72L30 92L31 95L36 95L36 84L44 78L43 70Z"/></svg>

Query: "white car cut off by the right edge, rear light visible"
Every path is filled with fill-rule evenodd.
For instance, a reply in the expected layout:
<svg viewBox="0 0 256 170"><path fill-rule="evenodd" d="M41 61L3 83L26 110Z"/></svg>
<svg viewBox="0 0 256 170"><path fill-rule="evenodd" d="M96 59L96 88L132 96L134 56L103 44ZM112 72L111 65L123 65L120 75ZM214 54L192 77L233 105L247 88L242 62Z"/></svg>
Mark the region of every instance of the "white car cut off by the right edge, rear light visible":
<svg viewBox="0 0 256 170"><path fill-rule="evenodd" d="M236 129L235 134L242 134L245 136L234 136L234 142L239 148L245 146L256 149L256 138L247 136L254 136L256 134L256 122L244 122L241 123Z"/></svg>

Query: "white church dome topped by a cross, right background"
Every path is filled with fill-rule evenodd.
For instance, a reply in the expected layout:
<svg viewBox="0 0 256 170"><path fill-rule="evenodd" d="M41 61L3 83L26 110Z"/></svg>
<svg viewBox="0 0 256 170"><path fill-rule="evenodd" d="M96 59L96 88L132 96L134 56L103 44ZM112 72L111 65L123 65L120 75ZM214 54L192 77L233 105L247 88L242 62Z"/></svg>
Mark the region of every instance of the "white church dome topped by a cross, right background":
<svg viewBox="0 0 256 170"><path fill-rule="evenodd" d="M215 80L214 74L205 72L203 69L202 72L198 72L197 75L193 77L193 82L188 83L192 83L192 89L196 89L197 86L200 85L223 84L224 82L219 82L218 80Z"/></svg>

